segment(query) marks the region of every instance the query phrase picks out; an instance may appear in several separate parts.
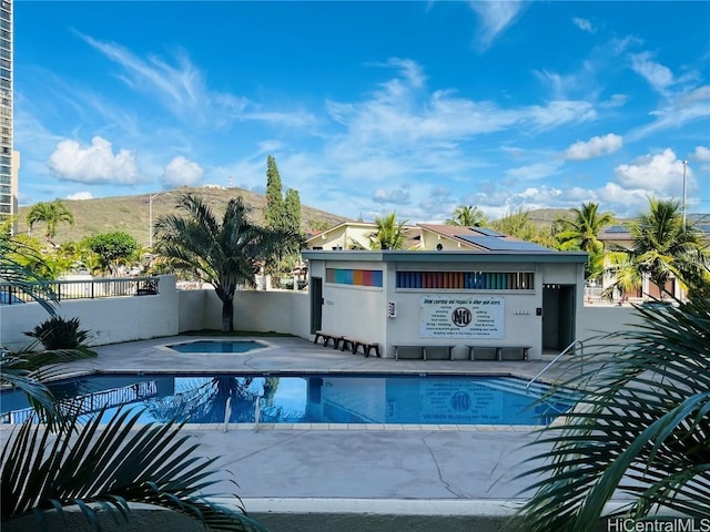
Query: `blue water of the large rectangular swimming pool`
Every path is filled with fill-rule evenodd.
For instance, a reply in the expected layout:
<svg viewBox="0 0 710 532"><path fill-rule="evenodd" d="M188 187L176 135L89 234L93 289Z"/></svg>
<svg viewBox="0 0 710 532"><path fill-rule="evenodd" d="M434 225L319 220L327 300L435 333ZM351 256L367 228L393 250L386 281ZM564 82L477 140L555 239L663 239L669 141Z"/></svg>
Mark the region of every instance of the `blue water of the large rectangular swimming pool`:
<svg viewBox="0 0 710 532"><path fill-rule="evenodd" d="M227 398L230 422L254 422L260 401L264 423L546 424L574 402L525 389L510 377L442 376L244 376L92 375L52 385L57 398L81 398L91 413L108 406L144 408L142 421L176 418L222 423ZM2 421L30 415L24 396L3 392Z"/></svg>

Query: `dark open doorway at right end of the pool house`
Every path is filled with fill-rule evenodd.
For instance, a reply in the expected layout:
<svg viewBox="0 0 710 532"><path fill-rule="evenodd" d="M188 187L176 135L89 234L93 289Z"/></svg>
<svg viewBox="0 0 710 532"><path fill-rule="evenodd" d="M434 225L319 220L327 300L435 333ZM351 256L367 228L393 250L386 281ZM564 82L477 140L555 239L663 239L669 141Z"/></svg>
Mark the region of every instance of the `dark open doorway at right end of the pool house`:
<svg viewBox="0 0 710 532"><path fill-rule="evenodd" d="M575 341L575 285L542 287L542 350L561 351Z"/></svg>

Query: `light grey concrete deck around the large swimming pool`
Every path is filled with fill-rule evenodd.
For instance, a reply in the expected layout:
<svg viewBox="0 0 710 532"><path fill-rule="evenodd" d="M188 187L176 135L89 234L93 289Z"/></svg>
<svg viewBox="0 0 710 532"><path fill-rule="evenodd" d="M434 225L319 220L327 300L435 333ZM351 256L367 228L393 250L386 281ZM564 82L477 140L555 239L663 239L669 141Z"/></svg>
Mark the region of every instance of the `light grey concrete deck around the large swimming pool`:
<svg viewBox="0 0 710 532"><path fill-rule="evenodd" d="M71 372L415 372L534 377L547 361L397 360L364 358L292 337L244 337L268 348L245 354L180 354L162 346L207 337L170 337L99 346L93 360L71 362ZM555 378L555 372L546 377ZM281 529L272 518L293 513L497 515L513 513L531 479L515 477L541 448L527 427L459 426L186 426L197 454L222 457L212 493L239 494L250 513L272 530L348 530L343 523ZM239 488L227 482L235 480ZM298 510L301 509L301 510ZM291 522L291 521L290 521ZM437 530L498 530L452 528ZM429 523L430 525L432 523ZM292 523L293 525L293 523ZM295 525L293 525L295 526ZM352 530L418 530L366 528ZM422 529L425 530L425 529ZM430 530L430 529L428 529Z"/></svg>

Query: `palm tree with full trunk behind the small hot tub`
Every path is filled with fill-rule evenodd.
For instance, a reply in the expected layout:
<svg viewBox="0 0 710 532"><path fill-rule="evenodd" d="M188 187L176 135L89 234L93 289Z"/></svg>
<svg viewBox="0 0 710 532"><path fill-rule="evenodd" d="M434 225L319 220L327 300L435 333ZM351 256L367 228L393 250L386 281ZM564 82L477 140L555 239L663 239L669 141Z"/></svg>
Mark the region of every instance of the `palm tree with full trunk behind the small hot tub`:
<svg viewBox="0 0 710 532"><path fill-rule="evenodd" d="M186 217L163 215L155 224L159 255L172 266L214 286L222 301L222 330L234 330L234 293L254 286L260 267L297 239L285 229L267 229L250 219L242 197L230 200L222 223L197 196L184 194L178 209Z"/></svg>

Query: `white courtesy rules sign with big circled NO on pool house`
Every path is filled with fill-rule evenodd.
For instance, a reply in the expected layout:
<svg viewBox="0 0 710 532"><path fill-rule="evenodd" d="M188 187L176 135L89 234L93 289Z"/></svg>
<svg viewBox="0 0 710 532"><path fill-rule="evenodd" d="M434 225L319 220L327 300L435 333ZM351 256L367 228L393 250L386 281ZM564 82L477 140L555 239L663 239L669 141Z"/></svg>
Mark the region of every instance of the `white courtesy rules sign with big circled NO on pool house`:
<svg viewBox="0 0 710 532"><path fill-rule="evenodd" d="M422 338L504 338L505 298L437 294L422 296Z"/></svg>

